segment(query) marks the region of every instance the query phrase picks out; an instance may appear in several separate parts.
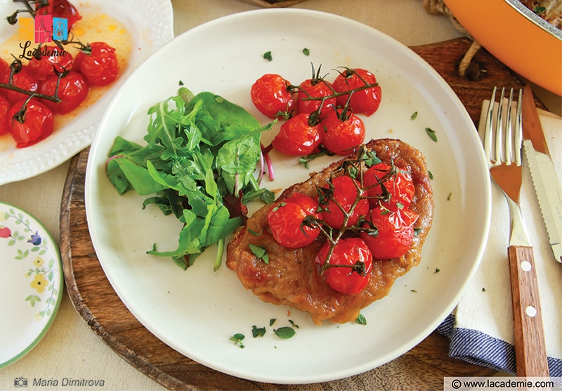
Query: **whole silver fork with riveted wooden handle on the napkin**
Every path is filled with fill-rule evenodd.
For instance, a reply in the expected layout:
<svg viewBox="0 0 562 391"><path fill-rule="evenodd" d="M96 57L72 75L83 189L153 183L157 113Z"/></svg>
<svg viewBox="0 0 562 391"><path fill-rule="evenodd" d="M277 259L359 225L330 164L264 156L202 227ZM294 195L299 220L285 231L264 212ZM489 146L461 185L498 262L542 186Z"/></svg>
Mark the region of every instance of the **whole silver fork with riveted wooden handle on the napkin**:
<svg viewBox="0 0 562 391"><path fill-rule="evenodd" d="M497 88L494 87L486 114L483 144L490 160L488 162L490 176L504 192L509 205L511 233L507 252L514 313L517 376L542 377L549 376L549 369L535 258L519 205L519 193L523 181L521 166L523 91L521 89L518 91L515 118L512 118L514 89L509 91L507 101L504 98L505 92L502 88L499 104L495 110ZM497 115L493 115L495 111Z"/></svg>

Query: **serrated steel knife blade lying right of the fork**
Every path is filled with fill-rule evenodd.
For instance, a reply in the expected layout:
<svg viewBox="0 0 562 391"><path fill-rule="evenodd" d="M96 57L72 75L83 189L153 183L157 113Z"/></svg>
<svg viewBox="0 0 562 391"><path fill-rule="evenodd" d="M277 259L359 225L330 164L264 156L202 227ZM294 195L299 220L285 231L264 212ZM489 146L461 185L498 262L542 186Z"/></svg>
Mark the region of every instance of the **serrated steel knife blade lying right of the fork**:
<svg viewBox="0 0 562 391"><path fill-rule="evenodd" d="M562 186L556 175L530 84L523 91L523 148L547 227L552 254L562 263Z"/></svg>

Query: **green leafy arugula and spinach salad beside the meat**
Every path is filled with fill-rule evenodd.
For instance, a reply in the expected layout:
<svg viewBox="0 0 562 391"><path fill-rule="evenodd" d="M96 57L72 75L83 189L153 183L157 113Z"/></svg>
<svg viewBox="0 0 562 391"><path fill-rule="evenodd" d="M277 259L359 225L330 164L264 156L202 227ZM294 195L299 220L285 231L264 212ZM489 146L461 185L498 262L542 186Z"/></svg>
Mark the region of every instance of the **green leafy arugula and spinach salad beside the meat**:
<svg viewBox="0 0 562 391"><path fill-rule="evenodd" d="M107 175L119 194L149 196L143 209L155 204L184 224L176 250L158 251L155 244L148 254L171 257L187 269L216 244L216 270L226 236L246 219L245 204L254 198L273 202L273 193L259 184L260 136L275 122L262 126L239 105L211 92L193 96L185 87L148 115L146 145L117 136Z"/></svg>

